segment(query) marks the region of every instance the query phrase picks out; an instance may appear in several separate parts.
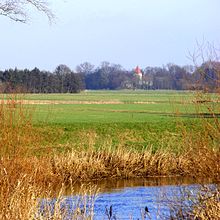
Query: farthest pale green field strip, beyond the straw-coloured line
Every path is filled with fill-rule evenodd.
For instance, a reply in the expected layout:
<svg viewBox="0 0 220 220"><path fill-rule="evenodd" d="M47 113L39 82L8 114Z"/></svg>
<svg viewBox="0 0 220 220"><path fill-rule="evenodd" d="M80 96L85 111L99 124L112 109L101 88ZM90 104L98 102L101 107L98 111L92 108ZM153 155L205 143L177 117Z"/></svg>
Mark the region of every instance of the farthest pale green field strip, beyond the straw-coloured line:
<svg viewBox="0 0 220 220"><path fill-rule="evenodd" d="M212 95L213 97L215 95ZM84 91L77 94L28 94L29 100L66 100L66 101L121 101L130 102L168 102L192 100L193 92L188 91L146 91L146 90L98 90Z"/></svg>

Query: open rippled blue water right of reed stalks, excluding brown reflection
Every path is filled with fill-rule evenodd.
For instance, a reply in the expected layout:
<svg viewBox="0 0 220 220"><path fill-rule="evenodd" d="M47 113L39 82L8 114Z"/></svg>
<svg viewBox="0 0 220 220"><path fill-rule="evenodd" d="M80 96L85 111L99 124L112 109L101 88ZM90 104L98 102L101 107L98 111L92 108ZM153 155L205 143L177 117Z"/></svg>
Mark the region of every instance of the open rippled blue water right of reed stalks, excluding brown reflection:
<svg viewBox="0 0 220 220"><path fill-rule="evenodd" d="M146 219L166 219L170 216L170 206L173 205L174 200L178 200L189 191L196 194L198 188L198 185L132 187L118 192L102 193L95 203L94 219L108 219L107 216L105 217L106 207L109 211L110 205L116 219L141 219L145 214L146 206L149 210L145 214ZM185 203L189 201L186 200Z"/></svg>

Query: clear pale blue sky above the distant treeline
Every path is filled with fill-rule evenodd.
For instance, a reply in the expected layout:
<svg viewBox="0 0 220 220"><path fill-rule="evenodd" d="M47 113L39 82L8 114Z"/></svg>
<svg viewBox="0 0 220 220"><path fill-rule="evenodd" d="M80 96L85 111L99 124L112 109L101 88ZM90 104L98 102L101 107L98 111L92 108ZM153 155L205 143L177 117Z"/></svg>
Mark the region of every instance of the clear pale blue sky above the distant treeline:
<svg viewBox="0 0 220 220"><path fill-rule="evenodd" d="M219 0L53 0L50 7L52 25L36 10L28 24L0 16L1 70L182 66L192 64L197 41L220 45Z"/></svg>

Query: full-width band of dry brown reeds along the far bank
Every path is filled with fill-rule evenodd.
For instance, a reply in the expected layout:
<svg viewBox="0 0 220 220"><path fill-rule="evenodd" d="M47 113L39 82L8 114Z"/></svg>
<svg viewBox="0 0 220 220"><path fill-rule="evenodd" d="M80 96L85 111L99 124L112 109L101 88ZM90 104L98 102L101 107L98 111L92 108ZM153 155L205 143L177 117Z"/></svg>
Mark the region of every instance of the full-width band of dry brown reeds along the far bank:
<svg viewBox="0 0 220 220"><path fill-rule="evenodd" d="M169 151L143 152L72 150L60 155L2 157L1 177L7 175L11 184L22 175L30 176L34 185L57 186L70 181L91 181L106 178L149 176L191 176L219 181L220 152L210 148L188 148L176 155ZM1 183L1 182L0 182Z"/></svg>

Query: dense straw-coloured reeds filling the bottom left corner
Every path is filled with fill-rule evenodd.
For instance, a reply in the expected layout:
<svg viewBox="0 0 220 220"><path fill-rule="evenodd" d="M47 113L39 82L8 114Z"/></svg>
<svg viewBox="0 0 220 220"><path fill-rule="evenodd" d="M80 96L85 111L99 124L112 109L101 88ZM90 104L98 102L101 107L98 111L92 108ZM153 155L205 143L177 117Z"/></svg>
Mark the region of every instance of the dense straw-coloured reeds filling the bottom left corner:
<svg viewBox="0 0 220 220"><path fill-rule="evenodd" d="M12 184L6 170L0 181L0 219L34 219L41 189L31 185L30 176L21 175ZM2 172L2 170L1 170Z"/></svg>

